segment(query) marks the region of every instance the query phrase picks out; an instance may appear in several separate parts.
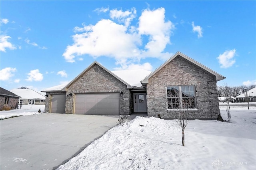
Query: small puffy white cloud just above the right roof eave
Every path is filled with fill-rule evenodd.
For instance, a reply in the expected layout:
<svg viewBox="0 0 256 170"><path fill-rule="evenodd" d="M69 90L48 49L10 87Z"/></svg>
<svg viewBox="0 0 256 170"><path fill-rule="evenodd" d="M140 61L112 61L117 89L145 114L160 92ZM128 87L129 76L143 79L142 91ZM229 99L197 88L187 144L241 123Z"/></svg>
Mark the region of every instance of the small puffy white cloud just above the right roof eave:
<svg viewBox="0 0 256 170"><path fill-rule="evenodd" d="M236 60L234 56L236 55L236 49L226 50L223 54L220 54L217 59L220 63L220 68L229 68L235 64Z"/></svg>

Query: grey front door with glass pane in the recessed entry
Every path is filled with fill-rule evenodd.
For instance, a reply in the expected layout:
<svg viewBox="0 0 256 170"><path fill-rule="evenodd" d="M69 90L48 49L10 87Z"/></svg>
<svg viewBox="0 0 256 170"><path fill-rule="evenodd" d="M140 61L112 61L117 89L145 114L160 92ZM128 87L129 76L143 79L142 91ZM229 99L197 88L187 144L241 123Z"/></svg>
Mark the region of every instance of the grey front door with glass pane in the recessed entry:
<svg viewBox="0 0 256 170"><path fill-rule="evenodd" d="M134 112L147 112L146 93L133 94L133 110Z"/></svg>

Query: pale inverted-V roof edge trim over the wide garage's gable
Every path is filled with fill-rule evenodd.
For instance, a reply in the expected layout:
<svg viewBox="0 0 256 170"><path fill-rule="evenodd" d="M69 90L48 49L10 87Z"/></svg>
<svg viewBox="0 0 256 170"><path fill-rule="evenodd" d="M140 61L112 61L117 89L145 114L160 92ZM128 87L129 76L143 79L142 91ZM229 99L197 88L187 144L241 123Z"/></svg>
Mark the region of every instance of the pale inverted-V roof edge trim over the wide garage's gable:
<svg viewBox="0 0 256 170"><path fill-rule="evenodd" d="M111 74L112 76L114 76L115 78L117 78L118 80L120 80L122 83L124 83L127 88L132 88L132 86L130 84L128 84L127 82L125 82L124 80L122 80L120 77L116 76L116 74L114 74L113 72L111 72L110 70L108 70L107 68L105 68L104 66L102 66L100 63L94 61L90 66L88 66L83 72L81 72L76 78L74 78L70 83L68 83L64 88L62 88L62 90L67 90L66 88L68 88L69 86L71 86L74 82L76 82L76 80L78 80L85 72L87 72L88 70L90 70L90 68L92 68L92 66L94 66L94 64L97 64L98 66L100 66L101 68L103 68L104 70L106 70L106 72L108 72L109 74Z"/></svg>

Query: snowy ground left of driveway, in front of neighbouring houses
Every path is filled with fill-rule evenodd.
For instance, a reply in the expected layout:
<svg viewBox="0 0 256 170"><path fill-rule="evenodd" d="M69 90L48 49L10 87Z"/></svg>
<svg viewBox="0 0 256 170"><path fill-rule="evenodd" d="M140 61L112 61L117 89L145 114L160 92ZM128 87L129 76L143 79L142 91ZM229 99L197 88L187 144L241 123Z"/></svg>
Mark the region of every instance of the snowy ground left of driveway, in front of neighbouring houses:
<svg viewBox="0 0 256 170"><path fill-rule="evenodd" d="M41 113L44 112L44 105L23 105L21 109L13 109L13 110L3 110L0 111L0 120L5 118L11 118L14 116L26 116L32 114L40 114L38 110L41 110Z"/></svg>

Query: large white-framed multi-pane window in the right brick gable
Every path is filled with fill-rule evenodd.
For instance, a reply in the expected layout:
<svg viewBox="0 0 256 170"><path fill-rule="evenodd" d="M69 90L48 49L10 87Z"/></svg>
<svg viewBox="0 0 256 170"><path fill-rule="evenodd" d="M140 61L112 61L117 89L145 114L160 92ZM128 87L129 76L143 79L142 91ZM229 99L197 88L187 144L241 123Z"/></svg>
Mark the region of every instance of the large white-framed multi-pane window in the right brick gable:
<svg viewBox="0 0 256 170"><path fill-rule="evenodd" d="M196 108L195 86L168 86L168 109Z"/></svg>

